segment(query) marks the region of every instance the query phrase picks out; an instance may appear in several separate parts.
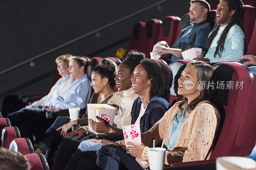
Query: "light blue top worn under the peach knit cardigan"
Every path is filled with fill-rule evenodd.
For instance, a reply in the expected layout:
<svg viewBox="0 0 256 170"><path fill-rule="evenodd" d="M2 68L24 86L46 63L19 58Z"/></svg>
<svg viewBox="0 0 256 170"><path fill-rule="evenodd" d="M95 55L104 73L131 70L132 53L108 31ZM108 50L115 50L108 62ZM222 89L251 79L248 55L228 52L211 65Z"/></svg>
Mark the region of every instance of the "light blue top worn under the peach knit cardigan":
<svg viewBox="0 0 256 170"><path fill-rule="evenodd" d="M167 150L171 150L174 148L179 135L180 135L180 129L182 127L182 124L185 122L185 120L188 118L188 116L184 117L184 112L187 109L188 106L184 107L183 110L181 110L172 120L171 128L169 131L169 139L168 143L166 145Z"/></svg>

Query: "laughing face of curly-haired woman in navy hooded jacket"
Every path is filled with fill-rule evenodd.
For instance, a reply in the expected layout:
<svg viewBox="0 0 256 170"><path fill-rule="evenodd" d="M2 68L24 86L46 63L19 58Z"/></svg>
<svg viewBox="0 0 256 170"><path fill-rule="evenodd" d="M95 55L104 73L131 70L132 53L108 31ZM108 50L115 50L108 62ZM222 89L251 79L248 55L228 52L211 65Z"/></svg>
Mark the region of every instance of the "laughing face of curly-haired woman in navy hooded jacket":
<svg viewBox="0 0 256 170"><path fill-rule="evenodd" d="M135 67L131 80L134 93L141 96L150 92L150 79L147 78L147 73L140 64Z"/></svg>

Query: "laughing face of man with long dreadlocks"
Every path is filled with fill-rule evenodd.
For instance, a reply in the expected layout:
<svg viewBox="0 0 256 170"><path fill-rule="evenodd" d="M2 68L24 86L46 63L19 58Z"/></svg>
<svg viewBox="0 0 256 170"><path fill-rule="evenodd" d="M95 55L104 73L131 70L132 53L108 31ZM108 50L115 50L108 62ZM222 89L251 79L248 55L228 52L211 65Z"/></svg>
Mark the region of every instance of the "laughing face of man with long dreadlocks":
<svg viewBox="0 0 256 170"><path fill-rule="evenodd" d="M216 10L216 22L220 23L220 26L225 26L230 23L235 10L228 11L228 2L222 0Z"/></svg>

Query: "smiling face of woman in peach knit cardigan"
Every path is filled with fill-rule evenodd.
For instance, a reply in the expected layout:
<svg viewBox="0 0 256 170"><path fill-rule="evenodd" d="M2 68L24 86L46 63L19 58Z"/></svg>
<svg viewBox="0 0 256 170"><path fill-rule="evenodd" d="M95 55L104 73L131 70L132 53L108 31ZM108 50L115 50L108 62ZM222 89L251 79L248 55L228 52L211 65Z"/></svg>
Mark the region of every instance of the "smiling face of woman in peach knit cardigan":
<svg viewBox="0 0 256 170"><path fill-rule="evenodd" d="M199 95L199 90L197 89L197 73L195 66L189 65L182 72L178 79L178 94L185 96L188 100L193 100ZM194 84L193 88L188 87L189 84ZM185 84L187 84L185 86ZM189 89L189 90L188 90Z"/></svg>

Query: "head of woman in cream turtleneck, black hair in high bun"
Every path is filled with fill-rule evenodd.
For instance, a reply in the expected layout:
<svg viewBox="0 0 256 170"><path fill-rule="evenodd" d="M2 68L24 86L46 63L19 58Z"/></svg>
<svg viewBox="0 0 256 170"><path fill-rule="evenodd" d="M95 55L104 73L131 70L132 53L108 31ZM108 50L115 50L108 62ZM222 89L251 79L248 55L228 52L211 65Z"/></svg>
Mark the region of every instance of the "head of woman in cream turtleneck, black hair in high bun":
<svg viewBox="0 0 256 170"><path fill-rule="evenodd" d="M133 70L140 61L145 59L145 54L136 50L131 50L121 64L116 69L116 87L118 91L128 90L132 87L131 78L133 76Z"/></svg>

